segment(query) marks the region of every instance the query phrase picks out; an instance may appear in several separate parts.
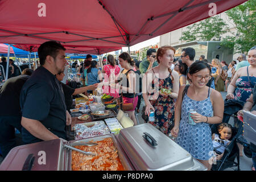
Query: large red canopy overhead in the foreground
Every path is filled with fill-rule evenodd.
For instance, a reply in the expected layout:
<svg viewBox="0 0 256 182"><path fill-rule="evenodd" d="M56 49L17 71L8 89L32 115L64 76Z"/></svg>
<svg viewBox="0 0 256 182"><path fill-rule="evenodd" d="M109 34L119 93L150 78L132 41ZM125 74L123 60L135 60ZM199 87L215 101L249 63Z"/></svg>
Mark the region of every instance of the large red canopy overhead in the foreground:
<svg viewBox="0 0 256 182"><path fill-rule="evenodd" d="M2 0L0 42L25 47L57 40L84 52L101 47L94 50L102 53L133 46L243 2L246 0Z"/></svg>

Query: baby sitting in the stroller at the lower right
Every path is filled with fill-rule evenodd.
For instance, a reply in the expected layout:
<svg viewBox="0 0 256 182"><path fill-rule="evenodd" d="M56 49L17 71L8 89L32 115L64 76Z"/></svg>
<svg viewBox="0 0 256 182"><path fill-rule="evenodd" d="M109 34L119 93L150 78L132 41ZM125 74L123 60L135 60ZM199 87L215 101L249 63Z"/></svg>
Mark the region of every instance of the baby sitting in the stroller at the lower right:
<svg viewBox="0 0 256 182"><path fill-rule="evenodd" d="M224 155L225 148L230 143L232 137L232 126L228 123L218 125L218 134L212 134L213 150L216 152L216 160L221 160Z"/></svg>

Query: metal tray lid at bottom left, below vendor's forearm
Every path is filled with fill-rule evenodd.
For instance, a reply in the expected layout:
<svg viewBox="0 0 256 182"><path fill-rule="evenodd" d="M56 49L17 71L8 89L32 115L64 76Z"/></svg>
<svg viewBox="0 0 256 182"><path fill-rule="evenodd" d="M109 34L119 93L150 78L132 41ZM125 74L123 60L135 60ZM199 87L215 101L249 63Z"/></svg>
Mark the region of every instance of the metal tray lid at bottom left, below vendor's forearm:
<svg viewBox="0 0 256 182"><path fill-rule="evenodd" d="M55 139L14 147L1 163L0 171L21 171L30 154L34 157L31 171L63 171L66 166L63 142Z"/></svg>

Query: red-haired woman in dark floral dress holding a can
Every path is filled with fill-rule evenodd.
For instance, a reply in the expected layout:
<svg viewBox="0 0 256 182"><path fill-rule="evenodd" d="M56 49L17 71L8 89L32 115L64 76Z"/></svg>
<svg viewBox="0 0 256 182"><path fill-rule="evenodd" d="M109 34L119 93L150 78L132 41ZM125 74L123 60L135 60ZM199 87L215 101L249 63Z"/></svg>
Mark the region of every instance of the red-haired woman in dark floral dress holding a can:
<svg viewBox="0 0 256 182"><path fill-rule="evenodd" d="M142 80L142 93L146 104L145 114L150 110L155 111L155 121L149 122L164 134L169 135L174 127L174 99L179 92L179 75L171 71L174 61L175 49L171 46L163 46L156 52L156 60L159 65L147 71ZM154 89L151 89L154 88ZM159 91L164 88L172 90L169 94Z"/></svg>

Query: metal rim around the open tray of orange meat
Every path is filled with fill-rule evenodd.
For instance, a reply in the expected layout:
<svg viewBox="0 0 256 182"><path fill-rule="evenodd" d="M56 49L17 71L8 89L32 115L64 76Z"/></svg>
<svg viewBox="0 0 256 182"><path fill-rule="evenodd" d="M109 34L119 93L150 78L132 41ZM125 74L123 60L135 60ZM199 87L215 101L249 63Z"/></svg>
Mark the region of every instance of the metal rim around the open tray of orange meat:
<svg viewBox="0 0 256 182"><path fill-rule="evenodd" d="M73 144L75 144L75 143L76 144L82 144L82 143L85 143L85 142L96 142L96 141L100 141L100 140L103 140L103 139L109 138L109 137L112 138L112 140L114 142L114 146L118 150L118 156L119 156L119 159L120 159L120 161L123 165L123 168L125 168L125 170L127 170L127 171L133 171L134 170L133 165L130 163L129 159L127 159L127 156L125 155L125 152L119 146L119 144L117 142L117 139L115 139L113 134L106 134L106 135L102 135L100 137L91 137L91 138L80 139L80 140L72 140L72 141L69 141L68 143L72 143L72 146L74 146ZM67 148L64 148L64 150L68 152L68 155L65 156L65 161L66 161L65 164L67 164L65 166L65 170L71 171L72 170L72 168L71 168L72 151L67 149Z"/></svg>

